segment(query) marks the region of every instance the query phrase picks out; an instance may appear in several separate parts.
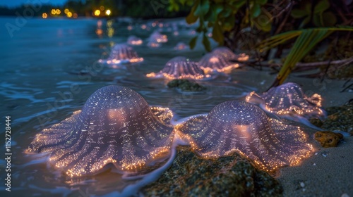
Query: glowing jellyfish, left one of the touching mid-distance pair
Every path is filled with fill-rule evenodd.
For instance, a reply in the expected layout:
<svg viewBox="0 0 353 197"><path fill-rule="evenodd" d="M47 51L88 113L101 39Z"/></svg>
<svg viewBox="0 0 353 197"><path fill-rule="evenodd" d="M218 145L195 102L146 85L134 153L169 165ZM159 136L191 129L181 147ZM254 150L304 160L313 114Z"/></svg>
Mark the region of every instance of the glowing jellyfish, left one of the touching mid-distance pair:
<svg viewBox="0 0 353 197"><path fill-rule="evenodd" d="M193 79L193 80L201 80L208 75L204 75L203 70L198 68L198 65L189 61L188 58L178 56L172 58L168 61L164 68L160 72L152 72L146 75L147 77L153 78L162 78L165 77L169 80L175 79Z"/></svg>

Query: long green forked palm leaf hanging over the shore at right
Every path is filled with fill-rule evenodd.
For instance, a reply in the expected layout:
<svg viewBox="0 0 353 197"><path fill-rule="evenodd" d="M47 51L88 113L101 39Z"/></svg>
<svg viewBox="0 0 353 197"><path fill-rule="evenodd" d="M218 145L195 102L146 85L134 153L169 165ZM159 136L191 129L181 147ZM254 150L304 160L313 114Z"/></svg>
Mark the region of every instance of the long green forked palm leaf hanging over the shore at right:
<svg viewBox="0 0 353 197"><path fill-rule="evenodd" d="M289 73L295 68L295 65L301 61L301 59L304 58L304 56L306 56L306 54L308 54L309 51L311 51L311 49L318 44L318 42L321 42L321 40L325 39L325 37L328 37L328 35L335 31L353 31L353 27L330 27L297 30L277 34L261 42L261 44L259 44L259 50L265 51L272 49L279 44L285 43L289 39L298 37L294 42L285 63L283 63L280 72L278 72L276 80L273 82L272 86L282 84L285 79L287 79Z"/></svg>

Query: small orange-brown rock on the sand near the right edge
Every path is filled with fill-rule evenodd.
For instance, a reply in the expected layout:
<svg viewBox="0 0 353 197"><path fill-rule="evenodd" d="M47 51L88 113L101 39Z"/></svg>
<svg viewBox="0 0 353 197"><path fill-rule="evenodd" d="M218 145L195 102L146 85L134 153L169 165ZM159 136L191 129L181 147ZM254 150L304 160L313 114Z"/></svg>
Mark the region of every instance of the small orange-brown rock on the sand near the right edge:
<svg viewBox="0 0 353 197"><path fill-rule="evenodd" d="M323 148L336 147L342 138L342 134L334 132L316 132L314 134L314 139L320 142Z"/></svg>

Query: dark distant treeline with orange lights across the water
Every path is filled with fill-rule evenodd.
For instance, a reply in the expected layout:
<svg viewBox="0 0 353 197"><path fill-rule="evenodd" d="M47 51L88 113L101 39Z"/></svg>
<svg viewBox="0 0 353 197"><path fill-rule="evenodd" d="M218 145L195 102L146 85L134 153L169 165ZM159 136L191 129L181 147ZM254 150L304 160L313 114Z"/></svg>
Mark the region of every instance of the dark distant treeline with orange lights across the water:
<svg viewBox="0 0 353 197"><path fill-rule="evenodd" d="M60 9L61 14L50 15L52 17L58 17L65 16L65 8L68 8L72 13L76 13L78 16L92 16L97 9L102 11L109 9L111 11L109 17L129 16L143 19L186 16L190 11L189 7L181 8L178 12L168 11L169 0L68 0L64 6L54 6L51 4L23 4L16 8L0 6L0 15L33 15L40 17L42 13L48 13L50 15L52 9Z"/></svg>

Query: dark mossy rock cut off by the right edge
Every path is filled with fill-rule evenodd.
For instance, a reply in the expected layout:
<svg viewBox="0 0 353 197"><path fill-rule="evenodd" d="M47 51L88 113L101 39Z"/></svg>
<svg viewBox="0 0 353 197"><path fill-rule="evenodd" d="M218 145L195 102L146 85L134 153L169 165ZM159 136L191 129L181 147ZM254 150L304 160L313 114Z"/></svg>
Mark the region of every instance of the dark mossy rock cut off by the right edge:
<svg viewBox="0 0 353 197"><path fill-rule="evenodd" d="M333 131L335 129L353 134L353 103L342 107L327 108L331 114L323 121L322 129Z"/></svg>

